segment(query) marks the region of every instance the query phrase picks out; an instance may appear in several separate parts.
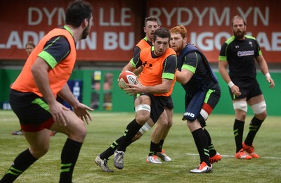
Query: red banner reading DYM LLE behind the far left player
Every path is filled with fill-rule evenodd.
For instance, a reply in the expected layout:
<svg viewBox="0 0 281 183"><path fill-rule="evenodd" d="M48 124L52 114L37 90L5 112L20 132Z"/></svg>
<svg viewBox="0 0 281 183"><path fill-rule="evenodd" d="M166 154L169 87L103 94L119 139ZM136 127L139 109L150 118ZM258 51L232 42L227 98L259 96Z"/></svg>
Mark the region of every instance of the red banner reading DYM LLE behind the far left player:
<svg viewBox="0 0 281 183"><path fill-rule="evenodd" d="M64 25L69 1L6 1L0 7L0 59L25 59L25 44ZM77 44L79 61L129 61L135 46L133 13L123 1L89 1L93 23ZM142 31L142 30L140 30Z"/></svg>

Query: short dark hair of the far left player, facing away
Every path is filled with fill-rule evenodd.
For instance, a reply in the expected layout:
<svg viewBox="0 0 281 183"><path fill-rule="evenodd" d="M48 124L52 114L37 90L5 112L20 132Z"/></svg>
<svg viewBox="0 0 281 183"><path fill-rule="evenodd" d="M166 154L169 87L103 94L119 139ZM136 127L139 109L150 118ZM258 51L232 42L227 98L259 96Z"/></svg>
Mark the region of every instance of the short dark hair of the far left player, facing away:
<svg viewBox="0 0 281 183"><path fill-rule="evenodd" d="M85 18L90 20L93 14L91 5L83 0L72 1L65 13L65 24L79 27Z"/></svg>

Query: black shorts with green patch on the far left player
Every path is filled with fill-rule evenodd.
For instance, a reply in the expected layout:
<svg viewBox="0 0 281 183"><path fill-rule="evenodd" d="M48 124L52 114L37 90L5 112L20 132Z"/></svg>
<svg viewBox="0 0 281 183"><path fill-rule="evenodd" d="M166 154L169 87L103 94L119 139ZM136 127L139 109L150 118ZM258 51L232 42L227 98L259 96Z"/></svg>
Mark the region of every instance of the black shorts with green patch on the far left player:
<svg viewBox="0 0 281 183"><path fill-rule="evenodd" d="M53 125L53 117L44 98L32 92L10 90L9 102L25 132L39 132Z"/></svg>

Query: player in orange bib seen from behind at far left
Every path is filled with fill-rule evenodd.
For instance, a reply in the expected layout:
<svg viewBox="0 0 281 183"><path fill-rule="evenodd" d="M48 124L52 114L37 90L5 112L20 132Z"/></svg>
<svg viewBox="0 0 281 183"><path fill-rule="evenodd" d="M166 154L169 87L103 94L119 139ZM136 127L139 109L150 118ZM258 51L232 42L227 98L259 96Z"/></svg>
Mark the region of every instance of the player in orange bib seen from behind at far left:
<svg viewBox="0 0 281 183"><path fill-rule="evenodd" d="M0 182L14 182L48 152L49 130L67 135L61 153L60 182L72 182L74 166L86 137L84 121L91 120L88 111L93 109L79 103L67 80L76 61L75 44L86 39L93 24L92 12L89 3L72 2L66 11L66 25L51 30L41 39L11 86L9 102L30 147L15 158ZM74 113L56 101L57 95L72 106Z"/></svg>

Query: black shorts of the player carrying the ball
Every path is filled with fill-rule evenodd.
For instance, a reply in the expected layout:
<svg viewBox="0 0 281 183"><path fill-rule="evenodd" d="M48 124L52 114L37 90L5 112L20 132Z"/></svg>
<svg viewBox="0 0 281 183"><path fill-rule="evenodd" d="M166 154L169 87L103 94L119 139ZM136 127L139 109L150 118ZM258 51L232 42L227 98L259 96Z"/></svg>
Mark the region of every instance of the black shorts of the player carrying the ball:
<svg viewBox="0 0 281 183"><path fill-rule="evenodd" d="M151 100L150 118L154 123L157 122L160 115L162 115L162 113L164 112L164 108L167 107L169 97L171 98L171 96L154 96L153 94L146 94L146 93L140 94L140 96L141 95L146 95L150 97Z"/></svg>

